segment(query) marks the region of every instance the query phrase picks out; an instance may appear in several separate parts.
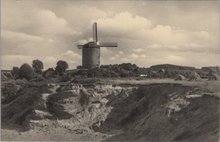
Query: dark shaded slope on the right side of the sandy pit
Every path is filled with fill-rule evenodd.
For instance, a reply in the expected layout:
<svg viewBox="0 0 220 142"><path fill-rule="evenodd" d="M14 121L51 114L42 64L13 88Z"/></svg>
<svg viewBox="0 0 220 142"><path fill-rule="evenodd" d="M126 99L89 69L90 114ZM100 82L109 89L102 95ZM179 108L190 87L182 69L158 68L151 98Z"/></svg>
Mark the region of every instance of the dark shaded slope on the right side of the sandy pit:
<svg viewBox="0 0 220 142"><path fill-rule="evenodd" d="M106 141L217 142L219 98L206 95L207 91L180 84L151 84L140 86L128 97L126 92L109 96L107 105L113 109L96 131L115 134L120 130ZM189 93L202 96L186 98ZM181 103L183 99L189 104ZM169 114L167 105L171 104L181 109Z"/></svg>

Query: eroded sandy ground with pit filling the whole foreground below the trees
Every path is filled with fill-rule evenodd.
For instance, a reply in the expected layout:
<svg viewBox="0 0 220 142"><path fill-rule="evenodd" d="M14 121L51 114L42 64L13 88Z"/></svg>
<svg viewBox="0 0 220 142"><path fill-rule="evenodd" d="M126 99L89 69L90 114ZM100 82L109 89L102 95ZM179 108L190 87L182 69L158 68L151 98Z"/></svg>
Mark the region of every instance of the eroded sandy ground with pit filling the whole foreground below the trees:
<svg viewBox="0 0 220 142"><path fill-rule="evenodd" d="M219 81L94 80L2 82L1 140L219 140Z"/></svg>

